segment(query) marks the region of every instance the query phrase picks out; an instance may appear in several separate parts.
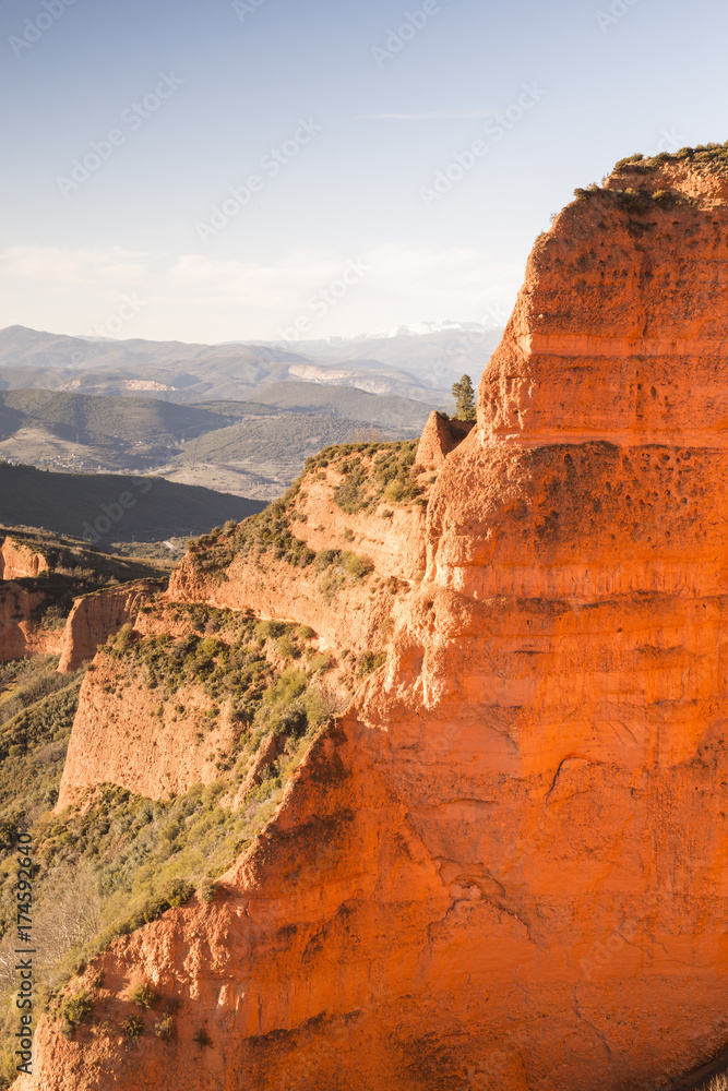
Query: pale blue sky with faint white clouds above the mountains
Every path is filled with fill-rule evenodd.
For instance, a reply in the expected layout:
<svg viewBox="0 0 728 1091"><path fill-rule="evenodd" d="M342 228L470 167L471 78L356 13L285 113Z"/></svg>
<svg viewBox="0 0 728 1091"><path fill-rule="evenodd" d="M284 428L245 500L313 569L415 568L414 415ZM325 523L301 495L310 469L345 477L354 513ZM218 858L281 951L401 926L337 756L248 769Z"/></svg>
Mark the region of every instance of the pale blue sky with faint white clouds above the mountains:
<svg viewBox="0 0 728 1091"><path fill-rule="evenodd" d="M0 0L0 328L503 325L575 187L728 140L708 0Z"/></svg>

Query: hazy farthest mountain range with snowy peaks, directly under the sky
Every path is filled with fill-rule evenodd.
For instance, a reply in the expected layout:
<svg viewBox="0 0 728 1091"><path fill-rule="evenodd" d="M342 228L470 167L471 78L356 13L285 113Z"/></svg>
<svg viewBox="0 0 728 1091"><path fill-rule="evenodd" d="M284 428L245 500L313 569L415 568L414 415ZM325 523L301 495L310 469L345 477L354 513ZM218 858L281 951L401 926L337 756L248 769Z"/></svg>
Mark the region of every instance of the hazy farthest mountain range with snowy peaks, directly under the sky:
<svg viewBox="0 0 728 1091"><path fill-rule="evenodd" d="M295 345L94 340L9 326L0 331L0 389L187 403L249 400L271 383L305 381L449 403L450 388L464 372L477 382L499 339L500 331L476 323L422 324Z"/></svg>

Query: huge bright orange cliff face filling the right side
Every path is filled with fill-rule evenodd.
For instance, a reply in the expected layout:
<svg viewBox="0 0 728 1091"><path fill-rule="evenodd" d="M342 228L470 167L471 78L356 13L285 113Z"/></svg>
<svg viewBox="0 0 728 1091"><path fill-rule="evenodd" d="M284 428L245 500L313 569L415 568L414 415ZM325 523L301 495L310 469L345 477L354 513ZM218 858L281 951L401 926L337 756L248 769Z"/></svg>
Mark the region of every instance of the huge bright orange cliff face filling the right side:
<svg viewBox="0 0 728 1091"><path fill-rule="evenodd" d="M45 1023L28 1088L637 1091L725 1044L725 190L614 176L537 243L387 667L213 904L87 971L177 995L174 1054Z"/></svg>

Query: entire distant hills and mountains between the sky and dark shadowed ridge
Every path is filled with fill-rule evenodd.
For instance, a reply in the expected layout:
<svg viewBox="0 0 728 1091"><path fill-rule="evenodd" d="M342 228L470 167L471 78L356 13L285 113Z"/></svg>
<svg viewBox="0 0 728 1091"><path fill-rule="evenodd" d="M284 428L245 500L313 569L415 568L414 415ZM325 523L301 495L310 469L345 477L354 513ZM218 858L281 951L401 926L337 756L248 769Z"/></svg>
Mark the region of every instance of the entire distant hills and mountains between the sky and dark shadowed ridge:
<svg viewBox="0 0 728 1091"><path fill-rule="evenodd" d="M417 331L417 332L413 332ZM284 345L0 331L0 459L272 500L322 446L411 439L500 338L475 323Z"/></svg>

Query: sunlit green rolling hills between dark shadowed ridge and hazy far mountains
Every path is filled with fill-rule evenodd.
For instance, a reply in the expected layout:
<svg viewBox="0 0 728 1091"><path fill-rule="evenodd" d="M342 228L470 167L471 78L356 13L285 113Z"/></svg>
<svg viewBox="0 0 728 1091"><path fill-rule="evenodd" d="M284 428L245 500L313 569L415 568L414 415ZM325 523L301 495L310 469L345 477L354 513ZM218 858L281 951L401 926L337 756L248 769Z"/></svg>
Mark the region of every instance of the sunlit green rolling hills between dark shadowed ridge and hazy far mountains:
<svg viewBox="0 0 728 1091"><path fill-rule="evenodd" d="M322 446L355 439L362 428L410 439L429 413L421 401L347 387L278 383L266 389L273 404L0 392L0 459L58 471L155 472L272 500Z"/></svg>

